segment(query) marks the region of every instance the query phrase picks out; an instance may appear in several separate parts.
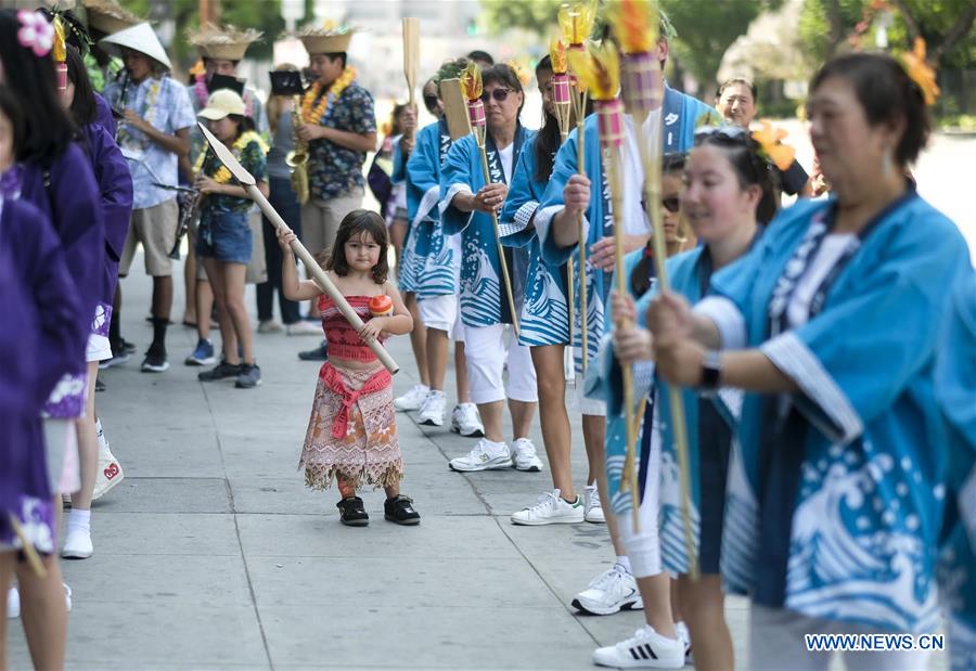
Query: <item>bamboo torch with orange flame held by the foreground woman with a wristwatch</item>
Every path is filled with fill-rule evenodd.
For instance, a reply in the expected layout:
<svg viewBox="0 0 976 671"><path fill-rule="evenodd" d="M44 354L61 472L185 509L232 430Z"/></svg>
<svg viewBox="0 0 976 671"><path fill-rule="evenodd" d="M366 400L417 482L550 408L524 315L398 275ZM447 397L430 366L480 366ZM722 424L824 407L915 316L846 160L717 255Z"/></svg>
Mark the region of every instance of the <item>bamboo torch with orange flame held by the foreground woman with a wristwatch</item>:
<svg viewBox="0 0 976 671"><path fill-rule="evenodd" d="M654 48L657 44L658 12L651 0L621 0L611 16L614 31L624 49L621 63L624 103L633 115L638 129L638 146L644 169L644 207L652 222L654 245L654 267L662 292L668 291L668 271L665 266L667 248L665 233L660 225L660 163L662 152L651 151L648 139L641 129L653 109L660 109L664 102L664 74ZM618 250L619 254L619 250ZM619 262L619 257L618 257ZM697 579L698 563L695 556L689 509L690 478L688 465L688 435L684 422L684 399L681 389L669 385L671 402L671 426L675 427L675 444L678 453L678 472L681 489L681 522L684 527L684 545L688 553L689 576ZM628 461L630 453L628 452Z"/></svg>

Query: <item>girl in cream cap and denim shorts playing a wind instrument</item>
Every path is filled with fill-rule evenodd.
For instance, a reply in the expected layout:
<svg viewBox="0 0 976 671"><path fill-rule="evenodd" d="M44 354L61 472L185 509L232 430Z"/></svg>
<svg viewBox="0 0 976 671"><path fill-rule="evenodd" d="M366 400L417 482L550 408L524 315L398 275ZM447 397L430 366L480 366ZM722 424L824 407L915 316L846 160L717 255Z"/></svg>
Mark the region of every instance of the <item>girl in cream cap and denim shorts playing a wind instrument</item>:
<svg viewBox="0 0 976 671"><path fill-rule="evenodd" d="M213 132L257 180L257 188L266 197L268 191L268 151L254 122L244 116L244 101L229 89L215 91L207 106L197 116L207 119ZM236 184L230 171L213 151L203 152L196 166L196 188L204 196L196 235L196 254L207 270L223 359L216 367L198 375L202 382L235 377L234 386L249 389L261 384L261 371L254 359L251 318L244 307L244 278L254 241L247 224L251 197ZM197 327L205 319L197 321ZM241 345L243 362L237 356Z"/></svg>

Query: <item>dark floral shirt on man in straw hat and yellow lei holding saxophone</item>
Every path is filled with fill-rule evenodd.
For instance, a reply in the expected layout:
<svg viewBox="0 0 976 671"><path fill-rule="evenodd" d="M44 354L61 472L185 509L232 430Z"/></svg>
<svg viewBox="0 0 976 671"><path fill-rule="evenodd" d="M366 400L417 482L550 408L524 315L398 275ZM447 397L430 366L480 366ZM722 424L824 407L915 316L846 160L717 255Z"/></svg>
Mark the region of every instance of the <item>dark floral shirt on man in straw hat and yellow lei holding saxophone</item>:
<svg viewBox="0 0 976 671"><path fill-rule="evenodd" d="M376 132L373 96L361 86L350 83L318 121L320 126L354 133ZM365 163L365 152L348 150L329 140L312 140L308 143L308 149L311 197L324 201L363 188L362 164Z"/></svg>

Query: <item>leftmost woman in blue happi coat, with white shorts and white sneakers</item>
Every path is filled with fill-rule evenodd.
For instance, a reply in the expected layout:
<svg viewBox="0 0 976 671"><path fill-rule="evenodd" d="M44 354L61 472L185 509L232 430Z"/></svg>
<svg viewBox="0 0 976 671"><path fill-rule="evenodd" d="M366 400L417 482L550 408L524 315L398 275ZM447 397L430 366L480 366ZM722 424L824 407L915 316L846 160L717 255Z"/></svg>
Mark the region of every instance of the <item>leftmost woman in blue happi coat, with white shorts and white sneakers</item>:
<svg viewBox="0 0 976 671"><path fill-rule="evenodd" d="M458 77L467 65L464 59L448 61L437 75L424 85L424 104L437 120L421 129L414 151L402 171L407 180L407 219L410 224L418 323L426 331L426 358L418 360L421 384L394 401L400 411L418 411L416 420L427 426L442 426L447 401L444 380L447 375L448 347L454 340L454 376L458 403L451 412L451 429L463 436L481 436L478 409L471 402L467 388L467 363L464 357L464 330L458 299L461 274L461 237L446 235L440 223L437 201L440 197L440 171L451 149L447 119L437 98L440 79ZM427 100L434 85L435 103Z"/></svg>

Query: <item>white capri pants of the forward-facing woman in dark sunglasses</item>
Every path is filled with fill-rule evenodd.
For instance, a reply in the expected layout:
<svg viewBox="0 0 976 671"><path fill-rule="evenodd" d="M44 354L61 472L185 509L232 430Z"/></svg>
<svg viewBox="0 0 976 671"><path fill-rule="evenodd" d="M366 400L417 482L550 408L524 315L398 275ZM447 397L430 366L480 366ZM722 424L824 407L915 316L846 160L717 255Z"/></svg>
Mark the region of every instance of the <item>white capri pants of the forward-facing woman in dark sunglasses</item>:
<svg viewBox="0 0 976 671"><path fill-rule="evenodd" d="M539 400L536 366L529 348L519 345L509 324L464 326L464 353L473 403L495 403L510 398L535 403ZM509 392L502 379L509 364Z"/></svg>

